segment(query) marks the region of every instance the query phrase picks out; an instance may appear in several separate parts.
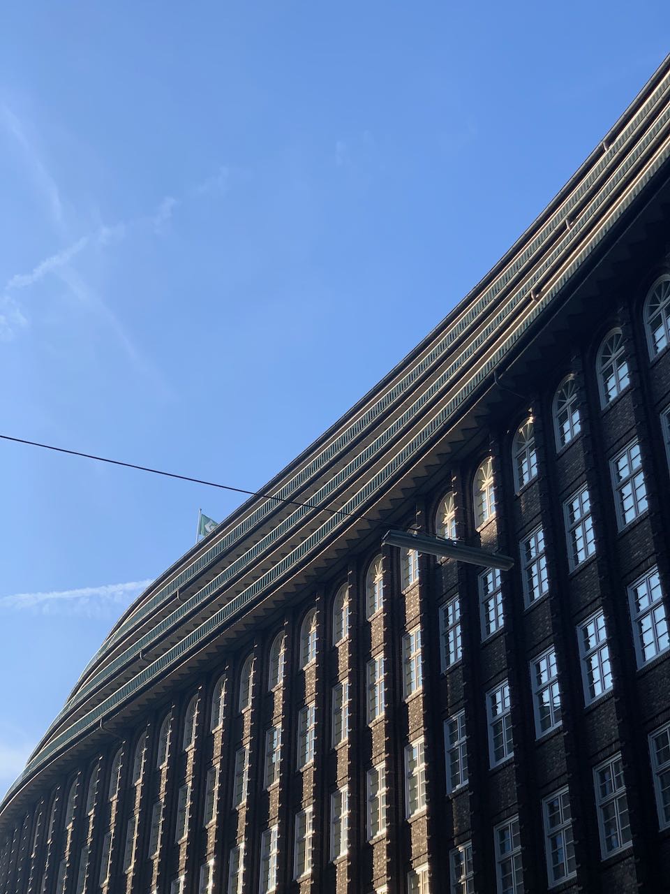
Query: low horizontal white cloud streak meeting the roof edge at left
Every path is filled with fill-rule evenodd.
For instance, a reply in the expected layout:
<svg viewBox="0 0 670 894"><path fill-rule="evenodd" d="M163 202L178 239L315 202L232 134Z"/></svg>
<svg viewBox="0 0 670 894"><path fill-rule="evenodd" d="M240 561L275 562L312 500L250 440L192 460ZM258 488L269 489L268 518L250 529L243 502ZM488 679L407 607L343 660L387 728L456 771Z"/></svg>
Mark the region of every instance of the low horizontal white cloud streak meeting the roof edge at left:
<svg viewBox="0 0 670 894"><path fill-rule="evenodd" d="M0 611L100 617L111 612L117 613L120 604L130 605L150 583L151 579L132 580L125 584L81 586L73 590L16 593L0 596Z"/></svg>

